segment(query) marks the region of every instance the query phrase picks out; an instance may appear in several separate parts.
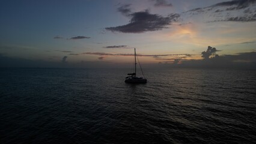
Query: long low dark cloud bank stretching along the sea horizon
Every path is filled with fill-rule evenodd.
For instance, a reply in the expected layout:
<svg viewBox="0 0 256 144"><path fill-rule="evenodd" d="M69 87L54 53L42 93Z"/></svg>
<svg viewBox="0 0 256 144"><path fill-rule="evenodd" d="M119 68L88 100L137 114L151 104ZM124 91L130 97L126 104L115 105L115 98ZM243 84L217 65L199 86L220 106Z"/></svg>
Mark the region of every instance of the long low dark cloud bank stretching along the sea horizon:
<svg viewBox="0 0 256 144"><path fill-rule="evenodd" d="M134 55L133 55L134 56ZM105 57L106 56L100 56ZM58 58L58 57L53 57ZM51 67L51 68L129 68L130 64L123 62L106 62L106 61L81 61L67 62L67 57L63 57L66 61L49 62L23 58L10 58L0 53L0 67ZM104 58L98 58L104 59ZM158 63L146 63L144 68L236 68L236 69L254 69L256 70L256 52L237 53L237 55L215 56L209 59L166 59L166 61L158 61Z"/></svg>

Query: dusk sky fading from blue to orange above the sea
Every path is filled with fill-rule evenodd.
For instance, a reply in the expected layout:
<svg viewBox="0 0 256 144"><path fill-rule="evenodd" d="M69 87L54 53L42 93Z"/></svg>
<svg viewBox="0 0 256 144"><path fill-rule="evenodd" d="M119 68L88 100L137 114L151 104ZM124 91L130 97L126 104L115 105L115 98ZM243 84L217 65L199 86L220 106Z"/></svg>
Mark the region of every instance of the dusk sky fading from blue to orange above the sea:
<svg viewBox="0 0 256 144"><path fill-rule="evenodd" d="M0 67L256 68L256 0L13 1Z"/></svg>

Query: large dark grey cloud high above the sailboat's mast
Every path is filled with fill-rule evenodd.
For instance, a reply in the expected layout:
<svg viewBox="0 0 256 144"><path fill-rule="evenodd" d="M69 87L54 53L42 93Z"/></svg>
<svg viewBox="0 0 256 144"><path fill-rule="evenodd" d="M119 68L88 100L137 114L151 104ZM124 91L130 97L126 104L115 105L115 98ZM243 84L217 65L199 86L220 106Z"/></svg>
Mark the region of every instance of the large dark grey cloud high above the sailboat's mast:
<svg viewBox="0 0 256 144"><path fill-rule="evenodd" d="M169 14L167 17L158 14L150 14L148 10L129 14L130 23L122 26L105 28L112 32L142 33L147 31L159 31L167 28L172 22L177 22L180 14Z"/></svg>

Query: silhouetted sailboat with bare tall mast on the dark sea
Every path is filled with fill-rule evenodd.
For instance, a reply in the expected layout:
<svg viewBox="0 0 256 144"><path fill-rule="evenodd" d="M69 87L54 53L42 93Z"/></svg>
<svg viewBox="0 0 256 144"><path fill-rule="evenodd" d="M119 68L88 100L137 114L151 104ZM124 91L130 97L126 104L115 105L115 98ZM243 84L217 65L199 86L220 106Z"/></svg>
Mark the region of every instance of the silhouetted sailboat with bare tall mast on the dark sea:
<svg viewBox="0 0 256 144"><path fill-rule="evenodd" d="M135 73L129 73L126 77L126 80L124 82L126 83L147 83L147 79L145 79L142 68L141 72L143 74L143 77L136 77L136 49L134 48L134 56L135 56ZM141 64L139 64L139 67L141 67Z"/></svg>

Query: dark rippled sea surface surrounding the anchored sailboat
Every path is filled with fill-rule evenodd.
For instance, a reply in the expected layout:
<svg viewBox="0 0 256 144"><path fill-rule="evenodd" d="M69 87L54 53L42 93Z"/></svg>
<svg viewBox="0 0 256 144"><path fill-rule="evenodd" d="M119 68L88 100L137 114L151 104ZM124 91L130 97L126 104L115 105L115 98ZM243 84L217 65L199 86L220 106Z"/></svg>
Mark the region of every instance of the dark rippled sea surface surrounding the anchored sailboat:
<svg viewBox="0 0 256 144"><path fill-rule="evenodd" d="M256 143L256 71L0 71L0 143Z"/></svg>

